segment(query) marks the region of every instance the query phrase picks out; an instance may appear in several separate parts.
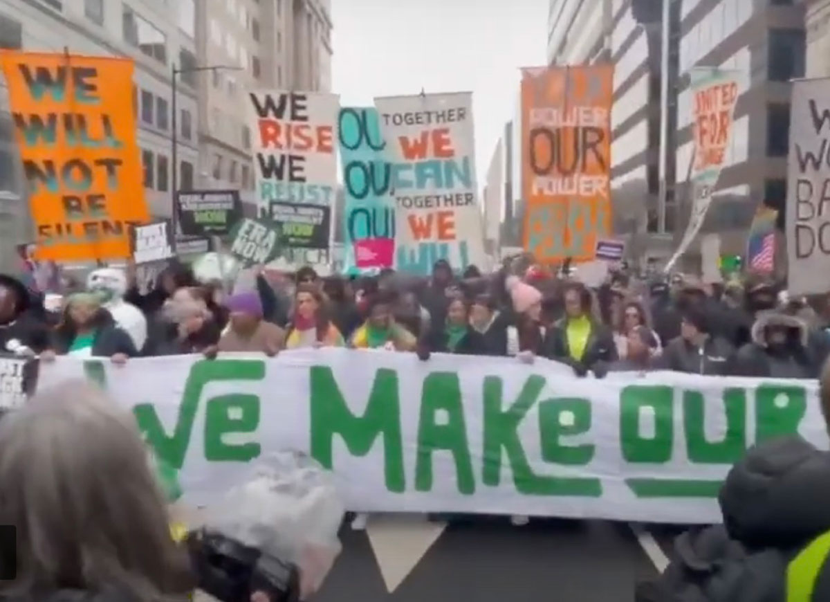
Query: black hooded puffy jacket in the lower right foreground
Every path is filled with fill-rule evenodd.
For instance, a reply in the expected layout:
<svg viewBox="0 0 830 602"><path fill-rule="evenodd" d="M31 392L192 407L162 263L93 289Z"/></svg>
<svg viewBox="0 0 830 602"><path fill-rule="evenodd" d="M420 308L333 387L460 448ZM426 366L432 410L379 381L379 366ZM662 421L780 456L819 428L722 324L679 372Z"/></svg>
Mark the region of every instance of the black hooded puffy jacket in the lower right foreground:
<svg viewBox="0 0 830 602"><path fill-rule="evenodd" d="M723 525L687 531L637 602L781 602L790 562L830 531L830 453L799 437L760 443L732 468L719 496ZM830 600L830 563L813 585Z"/></svg>

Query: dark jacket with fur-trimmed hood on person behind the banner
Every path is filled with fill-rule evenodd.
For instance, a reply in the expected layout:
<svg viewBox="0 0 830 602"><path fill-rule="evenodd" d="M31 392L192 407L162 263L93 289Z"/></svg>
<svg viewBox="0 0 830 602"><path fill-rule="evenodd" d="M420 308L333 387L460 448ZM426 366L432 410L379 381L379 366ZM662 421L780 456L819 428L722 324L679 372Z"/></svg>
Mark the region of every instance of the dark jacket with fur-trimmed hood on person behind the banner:
<svg viewBox="0 0 830 602"><path fill-rule="evenodd" d="M793 335L789 343L781 347L770 346L766 340L768 326L791 329ZM813 379L818 376L819 367L807 325L795 316L766 311L759 314L752 325L752 342L738 351L732 373L759 378Z"/></svg>

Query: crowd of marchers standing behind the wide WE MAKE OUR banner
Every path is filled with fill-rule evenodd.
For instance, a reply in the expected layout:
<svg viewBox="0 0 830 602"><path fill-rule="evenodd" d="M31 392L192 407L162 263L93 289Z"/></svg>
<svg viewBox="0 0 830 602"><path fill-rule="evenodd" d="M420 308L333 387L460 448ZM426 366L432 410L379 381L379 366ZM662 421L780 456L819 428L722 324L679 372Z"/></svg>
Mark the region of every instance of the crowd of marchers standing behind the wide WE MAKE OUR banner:
<svg viewBox="0 0 830 602"><path fill-rule="evenodd" d="M612 272L589 288L515 257L482 276L444 261L432 277L385 270L375 277L318 277L303 267L250 291L225 294L173 263L140 294L126 277L124 302L144 315L146 336L127 335L100 290L66 296L52 314L23 281L0 277L0 349L110 356L352 347L432 353L536 356L574 374L674 370L691 374L815 378L830 353L830 303L790 299L773 281L704 285L695 278L645 281ZM140 342L139 342L140 341Z"/></svg>

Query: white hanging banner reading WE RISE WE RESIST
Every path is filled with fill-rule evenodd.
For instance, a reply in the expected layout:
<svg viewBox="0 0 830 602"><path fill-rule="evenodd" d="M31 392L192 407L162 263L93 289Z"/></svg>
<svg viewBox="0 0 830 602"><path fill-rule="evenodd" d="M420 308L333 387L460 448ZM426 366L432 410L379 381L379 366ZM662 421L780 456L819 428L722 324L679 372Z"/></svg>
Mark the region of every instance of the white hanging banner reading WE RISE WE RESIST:
<svg viewBox="0 0 830 602"><path fill-rule="evenodd" d="M256 202L286 247L329 247L339 96L250 91Z"/></svg>

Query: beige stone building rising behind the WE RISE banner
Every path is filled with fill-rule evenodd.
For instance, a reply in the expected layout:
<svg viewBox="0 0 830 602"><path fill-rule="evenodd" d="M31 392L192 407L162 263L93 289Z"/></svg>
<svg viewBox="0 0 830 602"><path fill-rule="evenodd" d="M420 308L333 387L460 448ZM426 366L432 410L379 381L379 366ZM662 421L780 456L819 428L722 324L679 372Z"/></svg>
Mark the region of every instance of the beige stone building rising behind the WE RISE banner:
<svg viewBox="0 0 830 602"><path fill-rule="evenodd" d="M247 89L329 91L328 0L212 0L196 8L201 167L207 188L241 188L251 201ZM183 184L185 182L183 181Z"/></svg>

